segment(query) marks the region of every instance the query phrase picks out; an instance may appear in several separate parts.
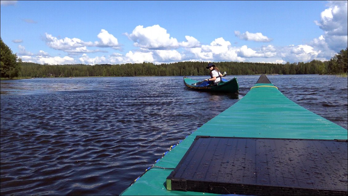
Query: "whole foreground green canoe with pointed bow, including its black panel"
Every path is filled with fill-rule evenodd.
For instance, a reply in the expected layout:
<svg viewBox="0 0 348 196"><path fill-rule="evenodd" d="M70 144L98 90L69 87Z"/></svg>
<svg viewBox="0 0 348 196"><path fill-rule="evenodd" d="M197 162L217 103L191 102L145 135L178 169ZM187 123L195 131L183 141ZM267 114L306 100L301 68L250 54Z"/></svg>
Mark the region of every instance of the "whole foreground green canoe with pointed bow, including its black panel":
<svg viewBox="0 0 348 196"><path fill-rule="evenodd" d="M347 195L347 136L261 75L121 195Z"/></svg>

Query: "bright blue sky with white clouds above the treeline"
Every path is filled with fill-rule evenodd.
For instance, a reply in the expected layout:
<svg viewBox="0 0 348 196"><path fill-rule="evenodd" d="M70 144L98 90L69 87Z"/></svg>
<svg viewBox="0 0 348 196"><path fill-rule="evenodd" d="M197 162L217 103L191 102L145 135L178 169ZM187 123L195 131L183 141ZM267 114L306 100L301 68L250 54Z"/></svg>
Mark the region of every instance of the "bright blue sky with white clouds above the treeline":
<svg viewBox="0 0 348 196"><path fill-rule="evenodd" d="M296 63L347 48L343 1L2 1L1 38L24 62Z"/></svg>

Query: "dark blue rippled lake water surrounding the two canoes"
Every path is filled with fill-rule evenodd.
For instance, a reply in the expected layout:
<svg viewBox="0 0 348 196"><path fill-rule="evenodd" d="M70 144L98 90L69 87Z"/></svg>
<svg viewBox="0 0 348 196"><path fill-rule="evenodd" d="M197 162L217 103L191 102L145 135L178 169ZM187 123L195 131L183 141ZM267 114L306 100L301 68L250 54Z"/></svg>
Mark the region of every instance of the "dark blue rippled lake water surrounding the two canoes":
<svg viewBox="0 0 348 196"><path fill-rule="evenodd" d="M239 94L190 91L183 77L2 80L1 195L119 195L259 77L237 76ZM267 77L347 129L347 78Z"/></svg>

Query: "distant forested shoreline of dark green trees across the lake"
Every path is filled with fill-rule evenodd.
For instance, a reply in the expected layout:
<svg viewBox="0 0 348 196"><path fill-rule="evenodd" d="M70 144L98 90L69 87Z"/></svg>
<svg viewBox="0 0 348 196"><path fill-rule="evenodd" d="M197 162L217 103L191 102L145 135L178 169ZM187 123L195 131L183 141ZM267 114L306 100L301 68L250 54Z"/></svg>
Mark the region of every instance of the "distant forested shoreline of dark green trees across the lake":
<svg viewBox="0 0 348 196"><path fill-rule="evenodd" d="M347 49L346 49L347 51ZM21 62L18 77L92 77L92 76L204 76L208 75L207 62L177 62L170 64L127 63L127 64L65 64L42 65ZM313 60L307 63L249 63L216 62L221 72L228 75L255 74L340 74L347 72L347 60L338 62Z"/></svg>

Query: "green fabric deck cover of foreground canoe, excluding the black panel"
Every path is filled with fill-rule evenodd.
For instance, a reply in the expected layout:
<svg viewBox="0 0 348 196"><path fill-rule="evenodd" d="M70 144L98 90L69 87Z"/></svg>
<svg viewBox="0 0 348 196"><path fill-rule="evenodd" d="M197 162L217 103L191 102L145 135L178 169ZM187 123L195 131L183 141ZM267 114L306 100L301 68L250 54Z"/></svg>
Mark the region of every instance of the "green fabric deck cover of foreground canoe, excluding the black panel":
<svg viewBox="0 0 348 196"><path fill-rule="evenodd" d="M317 140L348 139L345 128L294 103L273 84L260 79L242 99L179 142L154 166L175 168L197 135ZM152 168L121 195L221 195L167 190L166 179L172 171ZM347 173L347 171L342 172Z"/></svg>

